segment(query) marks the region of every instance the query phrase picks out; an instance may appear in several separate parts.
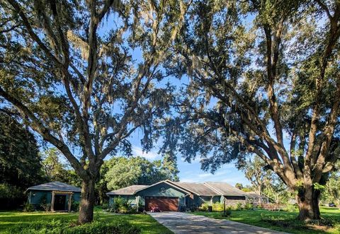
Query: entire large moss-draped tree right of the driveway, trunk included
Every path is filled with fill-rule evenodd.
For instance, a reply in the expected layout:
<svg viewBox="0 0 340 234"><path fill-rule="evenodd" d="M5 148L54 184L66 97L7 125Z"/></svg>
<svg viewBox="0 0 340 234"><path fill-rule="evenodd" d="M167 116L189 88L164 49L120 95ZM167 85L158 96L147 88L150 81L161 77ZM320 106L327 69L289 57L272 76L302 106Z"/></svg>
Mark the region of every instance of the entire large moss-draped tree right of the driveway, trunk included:
<svg viewBox="0 0 340 234"><path fill-rule="evenodd" d="M166 67L190 80L164 151L212 171L254 153L297 193L300 219L319 218L340 151L339 1L197 0L183 25Z"/></svg>

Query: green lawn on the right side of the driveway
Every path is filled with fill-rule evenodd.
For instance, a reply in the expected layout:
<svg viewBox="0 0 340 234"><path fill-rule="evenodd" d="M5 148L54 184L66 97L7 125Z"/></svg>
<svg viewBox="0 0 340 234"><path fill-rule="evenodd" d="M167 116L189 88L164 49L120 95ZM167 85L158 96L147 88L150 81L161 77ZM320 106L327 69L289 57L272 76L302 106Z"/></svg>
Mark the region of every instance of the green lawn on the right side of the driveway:
<svg viewBox="0 0 340 234"><path fill-rule="evenodd" d="M340 222L340 210L334 208L322 207L320 209L322 213L322 218L332 219ZM210 218L223 219L221 212L204 212L197 211L194 214L207 216ZM229 218L230 221L236 221L239 223L247 223L254 226L259 226L263 228L269 228L272 230L284 231L286 233L297 233L297 234L316 234L316 233L340 233L340 226L335 226L334 228L327 228L327 230L315 230L311 226L305 226L305 223L296 220L298 212L288 212L288 211L266 211L266 210L246 210L246 211L232 211L232 215ZM261 216L270 217L271 220L284 221L280 225L273 225L271 222L261 220ZM308 228L308 230L307 230Z"/></svg>

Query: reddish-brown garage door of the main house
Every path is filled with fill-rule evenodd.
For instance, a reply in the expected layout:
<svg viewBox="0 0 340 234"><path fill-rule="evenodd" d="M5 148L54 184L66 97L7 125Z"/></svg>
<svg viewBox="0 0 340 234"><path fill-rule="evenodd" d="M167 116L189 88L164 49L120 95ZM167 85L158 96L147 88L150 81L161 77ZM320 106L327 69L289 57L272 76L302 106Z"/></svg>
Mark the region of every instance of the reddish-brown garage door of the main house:
<svg viewBox="0 0 340 234"><path fill-rule="evenodd" d="M179 209L179 197L145 197L145 209L151 211L158 206L161 211L177 211Z"/></svg>

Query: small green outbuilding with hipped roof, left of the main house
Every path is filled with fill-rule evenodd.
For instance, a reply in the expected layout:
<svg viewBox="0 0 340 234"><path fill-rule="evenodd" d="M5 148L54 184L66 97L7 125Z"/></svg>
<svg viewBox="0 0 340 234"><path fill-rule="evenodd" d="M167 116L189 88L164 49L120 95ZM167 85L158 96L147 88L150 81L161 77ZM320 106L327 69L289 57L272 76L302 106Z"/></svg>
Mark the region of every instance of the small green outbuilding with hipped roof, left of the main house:
<svg viewBox="0 0 340 234"><path fill-rule="evenodd" d="M79 202L81 189L55 181L29 187L28 203L38 208L40 204L51 204L51 211L71 211L72 200Z"/></svg>

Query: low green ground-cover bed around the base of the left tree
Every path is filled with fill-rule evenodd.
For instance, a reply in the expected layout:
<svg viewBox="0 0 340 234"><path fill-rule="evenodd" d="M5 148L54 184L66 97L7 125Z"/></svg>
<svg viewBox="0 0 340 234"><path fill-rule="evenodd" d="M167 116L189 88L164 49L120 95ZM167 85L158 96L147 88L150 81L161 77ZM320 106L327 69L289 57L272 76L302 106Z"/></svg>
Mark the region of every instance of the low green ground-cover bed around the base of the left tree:
<svg viewBox="0 0 340 234"><path fill-rule="evenodd" d="M140 229L132 226L126 221L94 221L81 226L70 226L67 221L35 221L32 223L21 223L8 228L6 234L90 234L90 233L112 233L112 234L138 234Z"/></svg>

